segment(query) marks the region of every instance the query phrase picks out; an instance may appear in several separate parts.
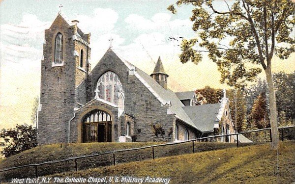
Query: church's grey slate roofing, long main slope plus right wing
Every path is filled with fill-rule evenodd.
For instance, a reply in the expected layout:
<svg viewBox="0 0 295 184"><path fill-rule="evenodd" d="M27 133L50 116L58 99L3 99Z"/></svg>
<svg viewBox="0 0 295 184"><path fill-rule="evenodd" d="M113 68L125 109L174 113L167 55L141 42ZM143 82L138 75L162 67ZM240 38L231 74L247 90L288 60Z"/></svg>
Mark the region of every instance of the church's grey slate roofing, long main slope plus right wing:
<svg viewBox="0 0 295 184"><path fill-rule="evenodd" d="M170 89L166 90L147 73L119 57L111 48L108 49L106 54L117 56L130 71L133 71L134 76L161 102L161 105L169 105L168 114L175 114L179 120L199 131L213 131L214 120L219 121L217 116L219 115L218 112L220 111L221 104L184 106L179 99L179 95L183 94L184 97L191 95L191 99L193 91L175 93Z"/></svg>

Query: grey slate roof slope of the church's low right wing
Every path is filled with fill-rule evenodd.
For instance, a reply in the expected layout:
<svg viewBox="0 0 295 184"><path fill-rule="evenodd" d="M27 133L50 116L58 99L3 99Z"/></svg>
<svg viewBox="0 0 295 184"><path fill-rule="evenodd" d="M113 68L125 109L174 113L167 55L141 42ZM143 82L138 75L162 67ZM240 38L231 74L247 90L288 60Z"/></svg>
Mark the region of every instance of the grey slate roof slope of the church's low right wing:
<svg viewBox="0 0 295 184"><path fill-rule="evenodd" d="M220 104L183 106L183 110L201 131L213 131Z"/></svg>

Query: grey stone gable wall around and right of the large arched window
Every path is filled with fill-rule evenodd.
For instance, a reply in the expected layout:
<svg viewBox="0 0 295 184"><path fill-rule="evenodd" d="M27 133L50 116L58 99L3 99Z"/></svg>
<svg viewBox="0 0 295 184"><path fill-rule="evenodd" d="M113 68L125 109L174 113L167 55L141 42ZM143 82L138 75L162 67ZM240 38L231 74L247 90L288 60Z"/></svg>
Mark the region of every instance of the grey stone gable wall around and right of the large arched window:
<svg viewBox="0 0 295 184"><path fill-rule="evenodd" d="M88 99L94 98L96 82L107 71L116 73L120 78L125 94L124 110L135 118L137 141L172 141L173 134L169 135L169 132L173 130L174 115L167 115L168 106L162 106L139 79L129 75L129 69L112 50L105 53L89 74ZM155 135L153 125L156 124L165 131L163 136Z"/></svg>

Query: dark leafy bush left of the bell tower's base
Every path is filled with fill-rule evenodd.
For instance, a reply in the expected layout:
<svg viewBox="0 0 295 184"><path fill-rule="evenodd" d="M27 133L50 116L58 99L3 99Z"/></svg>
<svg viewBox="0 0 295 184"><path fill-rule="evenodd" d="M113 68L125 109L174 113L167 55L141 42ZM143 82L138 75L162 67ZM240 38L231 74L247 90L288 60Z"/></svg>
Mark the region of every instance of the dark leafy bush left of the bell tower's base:
<svg viewBox="0 0 295 184"><path fill-rule="evenodd" d="M16 125L15 128L2 129L0 146L3 147L1 154L5 157L16 155L22 151L37 146L37 131L31 125Z"/></svg>

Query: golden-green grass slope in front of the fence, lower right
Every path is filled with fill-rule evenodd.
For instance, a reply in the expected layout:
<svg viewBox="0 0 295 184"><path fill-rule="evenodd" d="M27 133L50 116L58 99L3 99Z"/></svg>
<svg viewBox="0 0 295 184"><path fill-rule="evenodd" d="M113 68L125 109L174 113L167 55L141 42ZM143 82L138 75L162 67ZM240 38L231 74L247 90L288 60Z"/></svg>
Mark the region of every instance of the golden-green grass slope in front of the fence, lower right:
<svg viewBox="0 0 295 184"><path fill-rule="evenodd" d="M50 177L149 176L171 178L170 184L290 184L295 182L295 141L281 142L278 163L277 182L277 152L270 150L270 144L266 143L65 172Z"/></svg>

